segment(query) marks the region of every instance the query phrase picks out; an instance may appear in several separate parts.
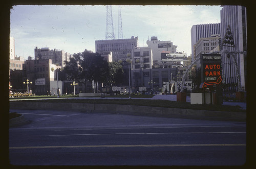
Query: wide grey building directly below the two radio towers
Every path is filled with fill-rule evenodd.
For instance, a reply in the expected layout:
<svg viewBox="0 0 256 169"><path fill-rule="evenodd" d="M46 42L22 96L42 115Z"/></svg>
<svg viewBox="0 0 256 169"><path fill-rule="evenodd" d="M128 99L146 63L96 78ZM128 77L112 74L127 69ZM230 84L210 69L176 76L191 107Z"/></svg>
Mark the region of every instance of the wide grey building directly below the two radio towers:
<svg viewBox="0 0 256 169"><path fill-rule="evenodd" d="M95 40L95 51L101 55L109 55L112 52L113 61L125 61L127 53L132 53L138 44L138 37L134 36L130 39Z"/></svg>

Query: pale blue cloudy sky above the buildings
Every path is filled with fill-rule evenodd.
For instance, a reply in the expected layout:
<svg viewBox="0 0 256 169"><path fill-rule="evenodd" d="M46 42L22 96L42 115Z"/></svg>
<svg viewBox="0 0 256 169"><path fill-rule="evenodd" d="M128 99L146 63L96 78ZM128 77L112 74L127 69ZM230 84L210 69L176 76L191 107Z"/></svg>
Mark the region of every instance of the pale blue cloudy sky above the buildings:
<svg viewBox="0 0 256 169"><path fill-rule="evenodd" d="M157 36L171 41L177 51L191 54L193 25L220 23L220 6L122 5L123 39L138 36L139 46ZM118 6L112 6L115 39L118 39ZM95 40L105 40L104 5L17 5L10 10L10 36L15 55L34 58L34 49L49 47L70 54L95 52Z"/></svg>

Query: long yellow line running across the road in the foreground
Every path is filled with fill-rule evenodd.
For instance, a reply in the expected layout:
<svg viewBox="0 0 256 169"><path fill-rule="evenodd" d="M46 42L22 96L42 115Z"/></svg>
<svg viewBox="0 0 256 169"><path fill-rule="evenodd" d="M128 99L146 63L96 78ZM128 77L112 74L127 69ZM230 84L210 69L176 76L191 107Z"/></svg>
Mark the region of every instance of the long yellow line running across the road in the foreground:
<svg viewBox="0 0 256 169"><path fill-rule="evenodd" d="M145 144L145 145L142 144L142 145L92 145L92 146L34 146L34 147L9 147L9 149L200 147L200 146L246 146L246 144Z"/></svg>

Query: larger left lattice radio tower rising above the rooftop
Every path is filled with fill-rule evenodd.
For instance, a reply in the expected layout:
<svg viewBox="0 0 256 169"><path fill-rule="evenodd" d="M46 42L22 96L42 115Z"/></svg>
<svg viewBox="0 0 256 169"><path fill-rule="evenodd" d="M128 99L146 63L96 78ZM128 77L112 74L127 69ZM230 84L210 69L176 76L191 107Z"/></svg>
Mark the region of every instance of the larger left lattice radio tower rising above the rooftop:
<svg viewBox="0 0 256 169"><path fill-rule="evenodd" d="M109 40L109 39L115 39L111 5L106 6L106 37L105 37L105 40Z"/></svg>

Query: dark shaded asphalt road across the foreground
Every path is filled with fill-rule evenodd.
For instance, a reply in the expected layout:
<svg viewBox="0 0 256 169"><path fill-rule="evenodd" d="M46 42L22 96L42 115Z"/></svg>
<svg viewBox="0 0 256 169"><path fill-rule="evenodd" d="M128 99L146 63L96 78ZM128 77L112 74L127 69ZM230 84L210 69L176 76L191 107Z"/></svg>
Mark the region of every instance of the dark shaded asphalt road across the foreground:
<svg viewBox="0 0 256 169"><path fill-rule="evenodd" d="M243 165L246 123L112 112L10 110L13 165Z"/></svg>

